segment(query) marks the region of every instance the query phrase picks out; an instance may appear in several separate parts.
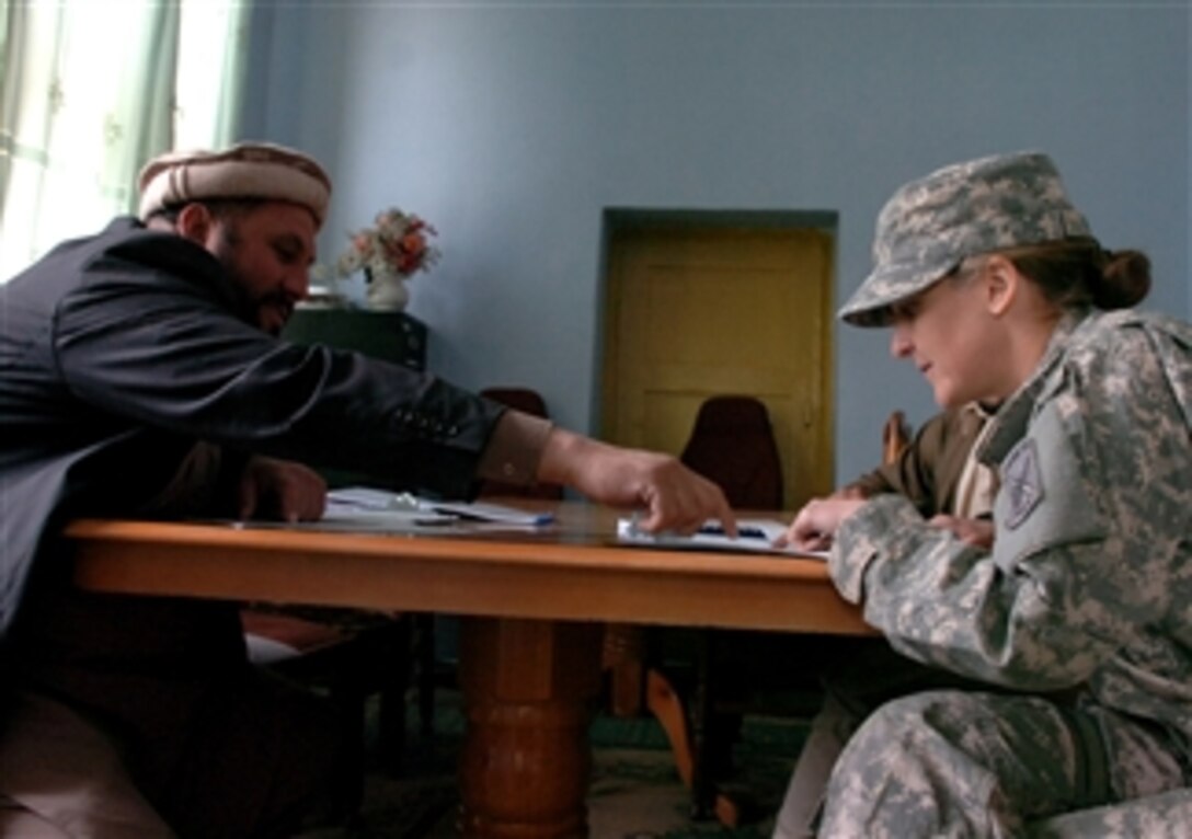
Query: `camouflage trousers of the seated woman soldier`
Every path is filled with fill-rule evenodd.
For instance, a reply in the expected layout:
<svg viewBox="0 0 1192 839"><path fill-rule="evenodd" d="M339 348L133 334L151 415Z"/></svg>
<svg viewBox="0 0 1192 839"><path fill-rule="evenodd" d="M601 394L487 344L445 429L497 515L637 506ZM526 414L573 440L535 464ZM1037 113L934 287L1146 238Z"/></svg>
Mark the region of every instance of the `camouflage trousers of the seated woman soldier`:
<svg viewBox="0 0 1192 839"><path fill-rule="evenodd" d="M1104 708L929 691L880 707L849 740L819 835L1017 837L1050 815L1185 783L1166 734Z"/></svg>

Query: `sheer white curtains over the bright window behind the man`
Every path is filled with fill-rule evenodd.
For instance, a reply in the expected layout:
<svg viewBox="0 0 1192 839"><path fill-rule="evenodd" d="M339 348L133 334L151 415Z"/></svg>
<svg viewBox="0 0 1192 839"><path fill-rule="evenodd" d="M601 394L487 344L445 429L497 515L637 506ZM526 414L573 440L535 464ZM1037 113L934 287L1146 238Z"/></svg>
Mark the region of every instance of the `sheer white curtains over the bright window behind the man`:
<svg viewBox="0 0 1192 839"><path fill-rule="evenodd" d="M0 282L136 210L136 175L236 132L248 5L0 0Z"/></svg>

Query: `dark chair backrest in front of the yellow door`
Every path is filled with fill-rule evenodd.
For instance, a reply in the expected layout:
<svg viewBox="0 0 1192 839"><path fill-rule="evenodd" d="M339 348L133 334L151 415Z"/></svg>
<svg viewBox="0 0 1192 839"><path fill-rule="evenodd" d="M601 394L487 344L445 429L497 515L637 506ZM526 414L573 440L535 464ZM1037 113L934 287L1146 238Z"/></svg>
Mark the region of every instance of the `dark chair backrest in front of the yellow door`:
<svg viewBox="0 0 1192 839"><path fill-rule="evenodd" d="M715 481L737 509L782 509L782 461L770 414L751 396L709 397L679 459Z"/></svg>

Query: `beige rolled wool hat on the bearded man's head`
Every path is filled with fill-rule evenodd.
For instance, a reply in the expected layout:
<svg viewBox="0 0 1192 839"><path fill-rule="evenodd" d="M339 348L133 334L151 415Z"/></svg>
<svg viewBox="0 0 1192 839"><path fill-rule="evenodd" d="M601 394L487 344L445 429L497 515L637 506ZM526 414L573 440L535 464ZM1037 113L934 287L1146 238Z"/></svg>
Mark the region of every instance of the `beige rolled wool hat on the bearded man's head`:
<svg viewBox="0 0 1192 839"><path fill-rule="evenodd" d="M311 157L272 143L240 143L224 151L169 151L149 161L137 180L141 220L166 207L216 199L290 201L322 225L331 179Z"/></svg>

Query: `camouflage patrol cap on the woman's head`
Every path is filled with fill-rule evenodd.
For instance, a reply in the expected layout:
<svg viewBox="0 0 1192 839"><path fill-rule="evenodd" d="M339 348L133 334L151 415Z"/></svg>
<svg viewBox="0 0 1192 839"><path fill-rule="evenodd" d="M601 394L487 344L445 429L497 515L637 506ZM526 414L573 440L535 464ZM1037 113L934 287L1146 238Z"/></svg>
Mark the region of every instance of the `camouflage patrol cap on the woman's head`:
<svg viewBox="0 0 1192 839"><path fill-rule="evenodd" d="M969 256L1073 237L1092 232L1047 155L995 155L938 169L902 186L882 207L874 271L839 317L856 327L888 325L893 304Z"/></svg>

